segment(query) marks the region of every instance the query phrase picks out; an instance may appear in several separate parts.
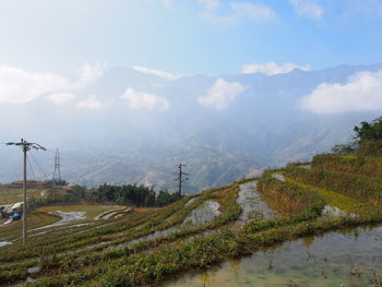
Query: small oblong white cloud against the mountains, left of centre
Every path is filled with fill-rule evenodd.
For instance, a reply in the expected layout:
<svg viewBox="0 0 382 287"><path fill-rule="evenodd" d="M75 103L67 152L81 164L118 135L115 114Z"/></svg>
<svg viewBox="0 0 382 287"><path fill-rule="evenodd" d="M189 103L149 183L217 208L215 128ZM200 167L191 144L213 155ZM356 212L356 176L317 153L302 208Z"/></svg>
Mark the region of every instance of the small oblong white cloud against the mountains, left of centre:
<svg viewBox="0 0 382 287"><path fill-rule="evenodd" d="M121 98L126 99L130 109L136 110L166 110L170 107L167 98L154 94L127 88Z"/></svg>

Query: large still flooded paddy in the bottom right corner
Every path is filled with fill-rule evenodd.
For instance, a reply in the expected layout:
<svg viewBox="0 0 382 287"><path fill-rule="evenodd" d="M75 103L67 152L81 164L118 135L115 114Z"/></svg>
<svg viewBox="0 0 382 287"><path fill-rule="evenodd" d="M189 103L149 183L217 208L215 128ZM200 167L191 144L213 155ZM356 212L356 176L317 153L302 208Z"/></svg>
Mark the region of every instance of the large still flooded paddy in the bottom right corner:
<svg viewBox="0 0 382 287"><path fill-rule="evenodd" d="M356 228L286 242L202 274L184 275L171 287L371 287L382 284L382 227Z"/></svg>

